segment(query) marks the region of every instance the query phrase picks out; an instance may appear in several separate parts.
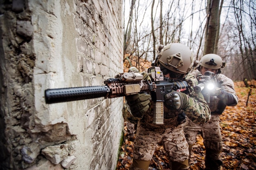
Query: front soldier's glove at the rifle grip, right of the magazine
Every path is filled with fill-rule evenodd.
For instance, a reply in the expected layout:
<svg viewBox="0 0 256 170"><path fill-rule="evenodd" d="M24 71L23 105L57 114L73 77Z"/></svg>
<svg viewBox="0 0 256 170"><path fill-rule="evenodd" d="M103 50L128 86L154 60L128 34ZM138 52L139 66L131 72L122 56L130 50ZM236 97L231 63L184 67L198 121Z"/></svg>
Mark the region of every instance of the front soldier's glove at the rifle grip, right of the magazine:
<svg viewBox="0 0 256 170"><path fill-rule="evenodd" d="M164 96L164 104L167 108L176 110L186 109L189 106L189 97L185 93L172 91Z"/></svg>

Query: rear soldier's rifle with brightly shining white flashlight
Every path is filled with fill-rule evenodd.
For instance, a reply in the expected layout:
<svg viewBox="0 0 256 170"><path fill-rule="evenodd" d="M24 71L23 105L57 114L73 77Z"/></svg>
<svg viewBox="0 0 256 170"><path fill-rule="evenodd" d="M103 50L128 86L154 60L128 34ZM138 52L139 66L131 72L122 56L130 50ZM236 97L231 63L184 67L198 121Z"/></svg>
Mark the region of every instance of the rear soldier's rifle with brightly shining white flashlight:
<svg viewBox="0 0 256 170"><path fill-rule="evenodd" d="M211 91L218 89L215 82L214 73L206 71L204 75L198 76L198 85L194 87L194 90L195 92L202 92L205 101L210 103Z"/></svg>

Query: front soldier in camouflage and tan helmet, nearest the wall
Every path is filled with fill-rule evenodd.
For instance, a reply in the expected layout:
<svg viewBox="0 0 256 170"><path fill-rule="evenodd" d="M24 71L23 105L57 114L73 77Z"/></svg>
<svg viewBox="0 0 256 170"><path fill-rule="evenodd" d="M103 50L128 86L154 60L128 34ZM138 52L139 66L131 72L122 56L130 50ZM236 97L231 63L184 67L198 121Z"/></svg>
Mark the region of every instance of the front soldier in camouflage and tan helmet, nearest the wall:
<svg viewBox="0 0 256 170"><path fill-rule="evenodd" d="M182 79L189 84L184 93L172 91L165 95L162 125L153 123L153 104L149 94L126 96L124 119L137 124L130 170L148 170L160 141L168 153L172 170L189 170L189 145L181 124L184 123L185 115L196 124L204 124L210 119L209 106L202 93L193 90L198 81L189 71L197 64L198 62L193 59L193 53L184 44L160 45L159 55L153 66L159 66L165 77ZM130 69L132 70L134 71L134 68ZM142 74L145 75L145 79L149 78L147 73Z"/></svg>

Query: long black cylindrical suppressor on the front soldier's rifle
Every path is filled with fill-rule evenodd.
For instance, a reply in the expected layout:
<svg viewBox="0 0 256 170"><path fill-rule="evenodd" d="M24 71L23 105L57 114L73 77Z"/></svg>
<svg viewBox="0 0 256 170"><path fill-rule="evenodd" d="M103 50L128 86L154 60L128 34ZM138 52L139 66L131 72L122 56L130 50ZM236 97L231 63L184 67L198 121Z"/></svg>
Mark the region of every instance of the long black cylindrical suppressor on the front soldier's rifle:
<svg viewBox="0 0 256 170"><path fill-rule="evenodd" d="M45 102L47 104L52 104L106 97L109 91L108 86L47 89L45 90Z"/></svg>

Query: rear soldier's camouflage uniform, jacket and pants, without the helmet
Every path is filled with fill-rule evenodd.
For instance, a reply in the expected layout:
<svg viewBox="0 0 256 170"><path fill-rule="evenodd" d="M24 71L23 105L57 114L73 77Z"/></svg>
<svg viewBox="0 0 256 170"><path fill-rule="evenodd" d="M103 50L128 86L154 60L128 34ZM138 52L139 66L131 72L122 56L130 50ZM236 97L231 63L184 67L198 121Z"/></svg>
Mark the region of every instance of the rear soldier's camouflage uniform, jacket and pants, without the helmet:
<svg viewBox="0 0 256 170"><path fill-rule="evenodd" d="M200 71L192 73L196 77ZM223 74L216 75L216 80L222 82L220 88L227 93L231 93L234 99L220 100L217 96L210 97L209 107L211 109L211 119L205 124L195 124L193 121L186 118L186 123L183 124L186 140L190 146L196 142L198 132L202 131L204 146L206 149L205 166L209 170L218 170L222 162L220 161L220 152L222 150L222 137L220 132L220 117L219 115L225 110L226 106L235 106L238 103L238 98L234 90L234 82ZM229 102L228 100L232 101Z"/></svg>

